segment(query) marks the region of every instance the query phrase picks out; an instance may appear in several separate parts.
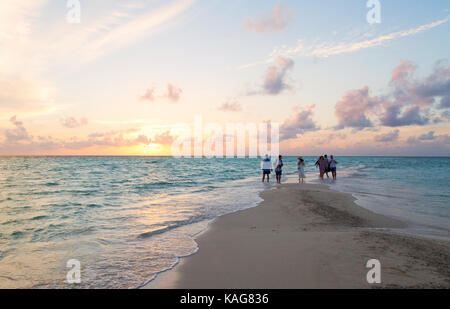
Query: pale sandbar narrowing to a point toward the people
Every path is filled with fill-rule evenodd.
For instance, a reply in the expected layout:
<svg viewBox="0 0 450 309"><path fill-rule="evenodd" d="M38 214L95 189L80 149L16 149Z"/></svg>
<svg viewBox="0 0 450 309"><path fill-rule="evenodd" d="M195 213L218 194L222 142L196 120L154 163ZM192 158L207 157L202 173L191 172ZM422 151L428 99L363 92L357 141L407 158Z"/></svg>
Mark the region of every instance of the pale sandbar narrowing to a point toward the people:
<svg viewBox="0 0 450 309"><path fill-rule="evenodd" d="M450 244L401 233L346 193L283 184L255 208L217 218L199 250L145 288L449 288ZM381 263L369 284L366 263Z"/></svg>

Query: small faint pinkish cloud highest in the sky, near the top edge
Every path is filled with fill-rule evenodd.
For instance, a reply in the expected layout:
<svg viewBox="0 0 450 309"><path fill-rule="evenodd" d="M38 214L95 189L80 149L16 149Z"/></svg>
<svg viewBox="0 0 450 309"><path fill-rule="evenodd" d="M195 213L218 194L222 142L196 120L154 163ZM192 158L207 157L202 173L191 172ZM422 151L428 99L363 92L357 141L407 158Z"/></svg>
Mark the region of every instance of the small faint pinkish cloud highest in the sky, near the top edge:
<svg viewBox="0 0 450 309"><path fill-rule="evenodd" d="M294 17L293 10L287 10L280 4L276 4L270 16L262 16L254 21L254 18L247 18L245 27L256 33L281 31L289 24Z"/></svg>

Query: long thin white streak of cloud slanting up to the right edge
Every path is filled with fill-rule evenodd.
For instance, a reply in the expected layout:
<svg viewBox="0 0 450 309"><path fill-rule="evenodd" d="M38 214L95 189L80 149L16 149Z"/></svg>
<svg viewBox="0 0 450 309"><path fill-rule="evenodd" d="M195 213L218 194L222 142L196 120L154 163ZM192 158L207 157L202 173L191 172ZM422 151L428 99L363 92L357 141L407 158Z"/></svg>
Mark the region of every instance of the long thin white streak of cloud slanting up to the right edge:
<svg viewBox="0 0 450 309"><path fill-rule="evenodd" d="M252 67L255 65L261 65L266 63L274 62L277 57L316 57L316 58L326 58L330 56L347 54L357 52L359 50L364 50L368 48L373 48L377 46L386 46L397 39L401 39L408 36L413 36L427 30L433 29L440 25L447 23L450 20L450 15L444 19L437 20L435 22L418 26L416 28L411 28L409 30L403 30L398 32L392 32L385 35L380 35L378 37L367 39L364 33L361 38L349 42L339 41L339 42L315 42L310 45L304 43L304 40L298 40L297 46L294 47L283 47L274 48L270 53L269 57L263 61L255 61L252 63L244 64L238 67L238 69L244 69Z"/></svg>

